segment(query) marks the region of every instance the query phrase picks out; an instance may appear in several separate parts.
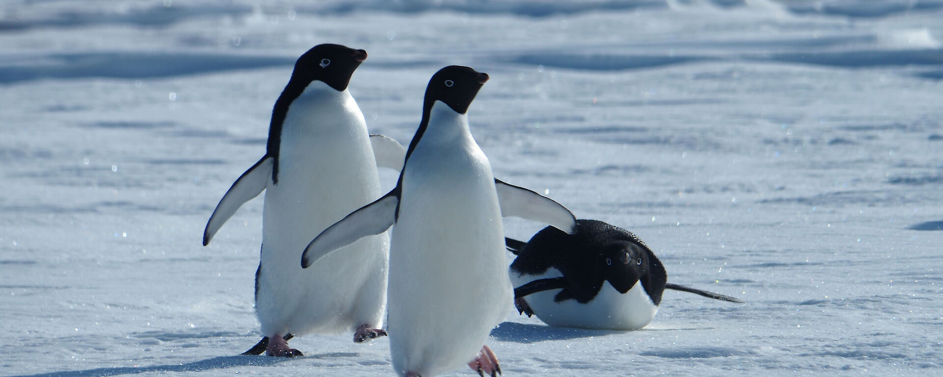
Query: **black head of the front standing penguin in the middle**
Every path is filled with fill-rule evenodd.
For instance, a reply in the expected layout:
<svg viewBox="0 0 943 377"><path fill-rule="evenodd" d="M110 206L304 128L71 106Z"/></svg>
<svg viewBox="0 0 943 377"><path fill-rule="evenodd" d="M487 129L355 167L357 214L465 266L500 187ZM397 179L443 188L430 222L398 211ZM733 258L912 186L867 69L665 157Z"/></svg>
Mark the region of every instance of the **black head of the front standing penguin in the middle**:
<svg viewBox="0 0 943 377"><path fill-rule="evenodd" d="M476 72L469 67L451 65L432 75L429 86L425 88L424 109L441 101L455 112L464 114L472 105L478 90L488 81L488 74Z"/></svg>

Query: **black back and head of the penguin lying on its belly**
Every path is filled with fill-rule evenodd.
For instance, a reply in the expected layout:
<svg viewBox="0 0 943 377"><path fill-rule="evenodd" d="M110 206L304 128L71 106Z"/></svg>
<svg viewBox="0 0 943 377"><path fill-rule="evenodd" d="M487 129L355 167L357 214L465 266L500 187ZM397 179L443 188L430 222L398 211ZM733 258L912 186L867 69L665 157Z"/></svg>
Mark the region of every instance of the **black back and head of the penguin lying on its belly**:
<svg viewBox="0 0 943 377"><path fill-rule="evenodd" d="M603 221L577 220L573 235L544 228L517 254L512 271L538 275L554 268L563 274L568 287L555 302L588 303L606 282L620 293L639 282L657 305L668 282L665 267L641 239Z"/></svg>

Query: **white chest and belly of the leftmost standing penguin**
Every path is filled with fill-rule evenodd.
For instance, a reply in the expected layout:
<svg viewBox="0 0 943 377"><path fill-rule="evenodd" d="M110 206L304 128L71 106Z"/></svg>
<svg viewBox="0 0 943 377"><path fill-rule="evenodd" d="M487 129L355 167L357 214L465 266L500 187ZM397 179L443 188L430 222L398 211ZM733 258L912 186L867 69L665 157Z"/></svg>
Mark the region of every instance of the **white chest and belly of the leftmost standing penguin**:
<svg viewBox="0 0 943 377"><path fill-rule="evenodd" d="M265 336L379 328L386 305L387 234L360 239L309 269L298 265L311 238L381 194L354 98L317 81L311 87L289 109L278 184L265 192L256 294Z"/></svg>

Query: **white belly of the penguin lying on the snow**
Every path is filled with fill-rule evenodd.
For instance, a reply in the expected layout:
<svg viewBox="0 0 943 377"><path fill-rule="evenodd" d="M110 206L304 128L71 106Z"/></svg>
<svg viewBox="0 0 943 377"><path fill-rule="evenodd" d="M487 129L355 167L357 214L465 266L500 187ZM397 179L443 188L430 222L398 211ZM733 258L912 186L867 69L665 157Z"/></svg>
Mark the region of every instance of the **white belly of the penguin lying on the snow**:
<svg viewBox="0 0 943 377"><path fill-rule="evenodd" d="M538 279L561 277L554 268L541 275L520 275L512 272L515 287L521 287ZM551 326L580 327L604 330L638 330L648 325L658 312L658 306L637 282L628 292L619 293L616 288L603 283L599 293L588 303L576 300L554 302L561 289L551 289L530 294L524 298L534 315Z"/></svg>

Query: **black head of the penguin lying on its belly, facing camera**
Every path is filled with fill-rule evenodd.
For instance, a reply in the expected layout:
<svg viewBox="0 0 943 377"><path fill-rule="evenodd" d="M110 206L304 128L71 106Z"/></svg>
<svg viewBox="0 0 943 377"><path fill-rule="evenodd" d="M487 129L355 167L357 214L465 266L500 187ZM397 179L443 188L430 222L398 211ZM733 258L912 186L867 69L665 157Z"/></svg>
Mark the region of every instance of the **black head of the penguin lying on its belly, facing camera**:
<svg viewBox="0 0 943 377"><path fill-rule="evenodd" d="M648 254L633 242L618 240L607 243L600 256L605 280L619 293L628 292L650 270Z"/></svg>

